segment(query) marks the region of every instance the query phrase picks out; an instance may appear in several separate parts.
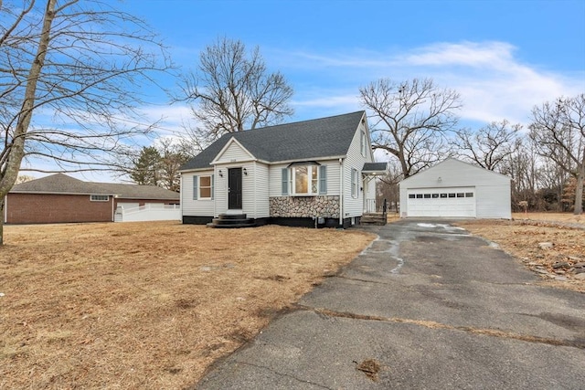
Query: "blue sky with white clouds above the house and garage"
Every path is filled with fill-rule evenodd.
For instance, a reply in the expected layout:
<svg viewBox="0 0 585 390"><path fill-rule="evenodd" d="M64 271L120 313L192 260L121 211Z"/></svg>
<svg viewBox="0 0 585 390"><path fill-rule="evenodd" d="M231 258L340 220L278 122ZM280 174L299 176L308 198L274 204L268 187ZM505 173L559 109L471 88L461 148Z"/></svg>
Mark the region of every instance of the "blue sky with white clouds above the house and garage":
<svg viewBox="0 0 585 390"><path fill-rule="evenodd" d="M182 69L218 37L260 47L281 71L303 121L362 110L359 88L380 78L431 78L462 95L462 125L507 119L585 92L583 0L125 0L122 9L158 32ZM176 80L160 79L168 89ZM181 132L185 105L148 90L144 120L161 116L163 135ZM86 180L114 178L90 174Z"/></svg>

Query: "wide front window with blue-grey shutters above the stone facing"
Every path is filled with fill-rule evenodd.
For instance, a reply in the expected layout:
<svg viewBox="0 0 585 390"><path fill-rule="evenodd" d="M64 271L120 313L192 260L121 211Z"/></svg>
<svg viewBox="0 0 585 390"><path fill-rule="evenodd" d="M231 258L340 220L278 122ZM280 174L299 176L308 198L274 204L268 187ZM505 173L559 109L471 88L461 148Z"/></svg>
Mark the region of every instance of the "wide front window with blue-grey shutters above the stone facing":
<svg viewBox="0 0 585 390"><path fill-rule="evenodd" d="M295 165L282 168L282 195L310 196L326 193L326 165Z"/></svg>

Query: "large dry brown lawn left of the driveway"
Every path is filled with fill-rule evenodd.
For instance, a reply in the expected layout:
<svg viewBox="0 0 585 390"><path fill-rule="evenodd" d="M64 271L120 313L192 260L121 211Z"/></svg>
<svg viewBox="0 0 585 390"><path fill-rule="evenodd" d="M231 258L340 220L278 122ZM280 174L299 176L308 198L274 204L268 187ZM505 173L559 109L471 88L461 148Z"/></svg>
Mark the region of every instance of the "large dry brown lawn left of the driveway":
<svg viewBox="0 0 585 390"><path fill-rule="evenodd" d="M5 227L0 388L194 385L372 239L169 222Z"/></svg>

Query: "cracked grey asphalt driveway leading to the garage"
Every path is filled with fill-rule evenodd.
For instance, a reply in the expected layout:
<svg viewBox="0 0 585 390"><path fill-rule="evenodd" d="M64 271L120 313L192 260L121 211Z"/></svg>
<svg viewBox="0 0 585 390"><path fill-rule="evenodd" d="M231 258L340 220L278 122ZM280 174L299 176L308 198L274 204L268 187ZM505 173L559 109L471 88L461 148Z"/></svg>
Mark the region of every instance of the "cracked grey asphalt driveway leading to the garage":
<svg viewBox="0 0 585 390"><path fill-rule="evenodd" d="M199 389L583 389L585 295L448 221L378 239Z"/></svg>

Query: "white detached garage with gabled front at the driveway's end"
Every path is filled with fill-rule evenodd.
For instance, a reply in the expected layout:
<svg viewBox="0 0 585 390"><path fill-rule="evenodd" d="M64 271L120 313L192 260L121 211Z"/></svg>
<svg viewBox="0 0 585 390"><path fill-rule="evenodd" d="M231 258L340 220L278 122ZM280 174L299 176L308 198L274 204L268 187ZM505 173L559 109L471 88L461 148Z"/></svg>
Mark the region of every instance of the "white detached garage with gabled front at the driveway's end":
<svg viewBox="0 0 585 390"><path fill-rule="evenodd" d="M512 218L510 178L452 158L399 188L400 217Z"/></svg>

